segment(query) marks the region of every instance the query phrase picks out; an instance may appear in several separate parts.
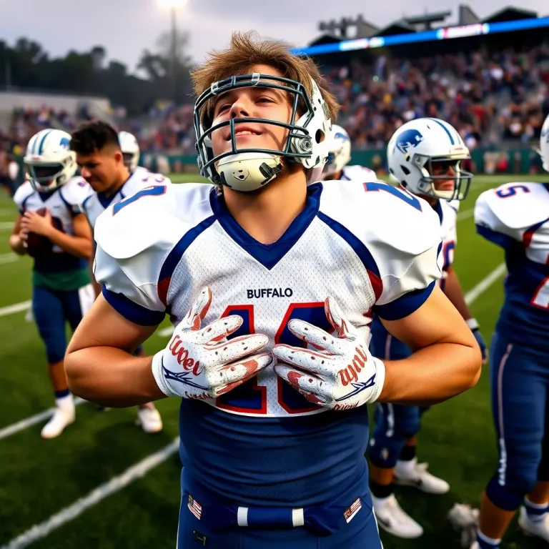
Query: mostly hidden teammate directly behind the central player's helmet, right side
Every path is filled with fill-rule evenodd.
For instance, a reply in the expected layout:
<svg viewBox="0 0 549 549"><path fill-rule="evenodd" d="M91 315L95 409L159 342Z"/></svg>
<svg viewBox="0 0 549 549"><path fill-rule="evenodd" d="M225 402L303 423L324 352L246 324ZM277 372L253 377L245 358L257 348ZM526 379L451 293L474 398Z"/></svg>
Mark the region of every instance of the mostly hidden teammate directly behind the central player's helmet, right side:
<svg viewBox="0 0 549 549"><path fill-rule="evenodd" d="M362 183L377 179L373 169L364 166L347 166L351 162L351 140L345 129L333 124L328 139L330 139L330 149L327 162L322 170L324 179L341 179L342 181Z"/></svg>

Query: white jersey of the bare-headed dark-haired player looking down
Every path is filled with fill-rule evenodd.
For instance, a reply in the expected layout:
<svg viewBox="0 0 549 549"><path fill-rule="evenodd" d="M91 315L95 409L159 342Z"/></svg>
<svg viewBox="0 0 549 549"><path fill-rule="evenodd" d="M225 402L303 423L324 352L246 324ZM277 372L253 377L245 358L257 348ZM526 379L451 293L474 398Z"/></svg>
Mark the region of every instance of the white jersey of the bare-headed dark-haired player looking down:
<svg viewBox="0 0 549 549"><path fill-rule="evenodd" d="M84 212L93 229L99 215L101 215L111 204L116 204L120 200L129 197L146 187L151 187L153 185L168 185L171 183L172 182L168 177L164 177L160 174L153 174L146 168L138 167L135 172L129 176L122 187L109 197L106 197L102 193L95 192L94 189L89 187L89 194L81 202L81 211Z"/></svg>

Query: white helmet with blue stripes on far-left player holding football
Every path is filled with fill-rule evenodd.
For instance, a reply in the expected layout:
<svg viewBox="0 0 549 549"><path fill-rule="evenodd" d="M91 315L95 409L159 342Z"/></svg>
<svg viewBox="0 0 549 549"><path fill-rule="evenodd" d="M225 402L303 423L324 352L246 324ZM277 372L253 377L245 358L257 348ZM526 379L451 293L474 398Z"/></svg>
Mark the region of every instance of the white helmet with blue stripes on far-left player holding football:
<svg viewBox="0 0 549 549"><path fill-rule="evenodd" d="M33 189L53 191L74 177L76 153L70 144L70 134L60 129L43 129L31 137L23 163Z"/></svg>

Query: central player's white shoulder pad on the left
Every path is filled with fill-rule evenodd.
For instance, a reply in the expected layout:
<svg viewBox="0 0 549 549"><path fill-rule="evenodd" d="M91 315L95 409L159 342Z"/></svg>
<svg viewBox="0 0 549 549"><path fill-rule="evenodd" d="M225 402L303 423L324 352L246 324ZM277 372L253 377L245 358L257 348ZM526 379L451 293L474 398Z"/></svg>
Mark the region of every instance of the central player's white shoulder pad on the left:
<svg viewBox="0 0 549 549"><path fill-rule="evenodd" d="M155 246L171 249L188 229L212 215L208 187L142 189L99 215L95 240L114 259L128 259Z"/></svg>

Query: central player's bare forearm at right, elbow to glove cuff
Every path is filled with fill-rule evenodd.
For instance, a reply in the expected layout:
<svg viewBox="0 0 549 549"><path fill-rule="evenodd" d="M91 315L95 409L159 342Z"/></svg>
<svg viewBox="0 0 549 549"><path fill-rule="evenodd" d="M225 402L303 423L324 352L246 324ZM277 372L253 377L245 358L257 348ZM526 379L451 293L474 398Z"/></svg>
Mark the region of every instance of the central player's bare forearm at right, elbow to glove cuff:
<svg viewBox="0 0 549 549"><path fill-rule="evenodd" d="M480 350L470 345L437 343L404 360L385 362L380 402L425 406L474 387L480 377Z"/></svg>

